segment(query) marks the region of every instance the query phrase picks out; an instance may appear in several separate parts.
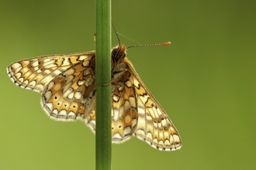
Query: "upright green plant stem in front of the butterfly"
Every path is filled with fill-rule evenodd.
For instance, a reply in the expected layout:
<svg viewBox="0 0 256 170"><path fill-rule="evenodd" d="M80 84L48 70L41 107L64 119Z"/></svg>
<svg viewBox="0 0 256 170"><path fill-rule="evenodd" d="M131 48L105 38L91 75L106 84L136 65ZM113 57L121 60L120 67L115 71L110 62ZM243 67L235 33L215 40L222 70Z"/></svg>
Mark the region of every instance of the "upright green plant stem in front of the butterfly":
<svg viewBox="0 0 256 170"><path fill-rule="evenodd" d="M96 170L111 169L111 1L96 0Z"/></svg>

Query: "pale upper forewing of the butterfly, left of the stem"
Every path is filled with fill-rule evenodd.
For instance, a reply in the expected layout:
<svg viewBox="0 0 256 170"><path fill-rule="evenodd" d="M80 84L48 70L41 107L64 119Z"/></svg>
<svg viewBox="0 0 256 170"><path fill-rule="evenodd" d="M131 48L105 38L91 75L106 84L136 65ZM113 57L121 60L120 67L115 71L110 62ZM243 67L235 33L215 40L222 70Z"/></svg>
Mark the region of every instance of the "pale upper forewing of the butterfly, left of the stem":
<svg viewBox="0 0 256 170"><path fill-rule="evenodd" d="M22 59L8 66L7 73L17 86L42 93L55 76L90 56L95 56L95 51Z"/></svg>

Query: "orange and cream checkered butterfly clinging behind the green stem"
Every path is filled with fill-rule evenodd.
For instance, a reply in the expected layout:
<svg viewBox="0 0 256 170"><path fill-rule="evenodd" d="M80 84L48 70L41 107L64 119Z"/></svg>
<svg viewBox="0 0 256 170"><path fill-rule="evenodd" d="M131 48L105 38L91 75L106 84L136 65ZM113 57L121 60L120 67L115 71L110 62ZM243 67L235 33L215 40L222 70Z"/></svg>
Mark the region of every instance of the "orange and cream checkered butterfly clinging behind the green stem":
<svg viewBox="0 0 256 170"><path fill-rule="evenodd" d="M9 65L7 73L17 86L41 93L41 106L50 118L80 119L95 132L95 51L22 59ZM159 150L182 147L168 114L127 59L126 46L112 49L110 83L112 143L122 143L134 135Z"/></svg>

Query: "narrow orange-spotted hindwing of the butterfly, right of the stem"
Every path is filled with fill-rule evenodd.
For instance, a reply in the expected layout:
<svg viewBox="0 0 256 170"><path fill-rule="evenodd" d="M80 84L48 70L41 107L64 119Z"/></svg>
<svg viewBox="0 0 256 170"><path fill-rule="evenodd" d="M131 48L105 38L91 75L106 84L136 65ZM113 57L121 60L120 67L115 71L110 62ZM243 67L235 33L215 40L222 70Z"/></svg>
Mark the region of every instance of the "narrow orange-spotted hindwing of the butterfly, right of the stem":
<svg viewBox="0 0 256 170"><path fill-rule="evenodd" d="M132 82L112 83L112 142L130 139L137 125L137 105Z"/></svg>

